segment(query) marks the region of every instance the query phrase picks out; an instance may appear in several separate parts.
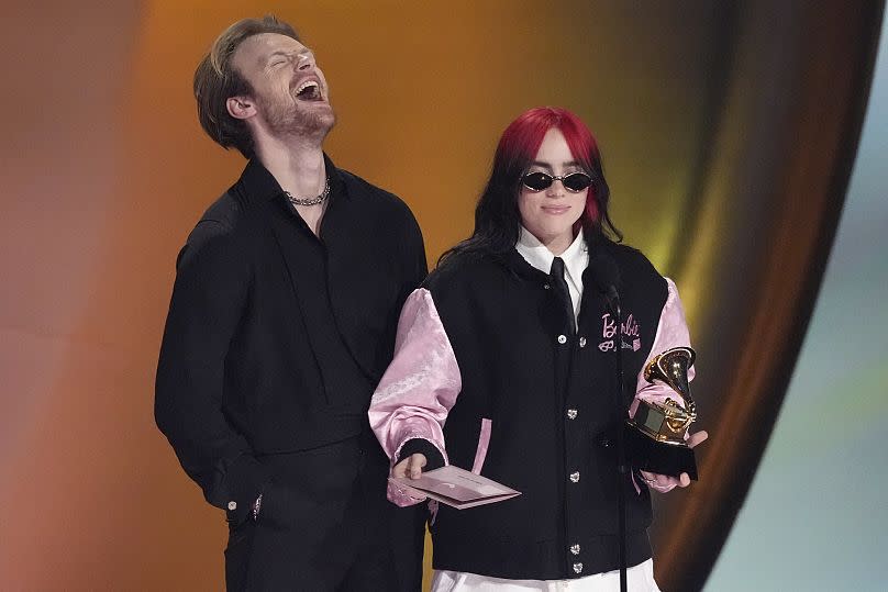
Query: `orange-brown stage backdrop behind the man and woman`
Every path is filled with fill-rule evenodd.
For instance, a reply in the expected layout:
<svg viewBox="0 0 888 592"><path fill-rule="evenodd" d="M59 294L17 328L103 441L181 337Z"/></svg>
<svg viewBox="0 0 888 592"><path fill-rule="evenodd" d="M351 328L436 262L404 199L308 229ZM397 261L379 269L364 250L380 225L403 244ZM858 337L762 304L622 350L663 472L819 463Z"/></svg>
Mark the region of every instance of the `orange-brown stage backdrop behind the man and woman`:
<svg viewBox="0 0 888 592"><path fill-rule="evenodd" d="M657 502L664 590L695 590L754 474L841 209L881 2L4 3L0 580L219 590L225 525L153 424L174 261L237 154L195 65L274 12L318 55L335 161L401 196L430 261L471 227L502 129L579 113L626 242L676 279L699 349L702 480Z"/></svg>

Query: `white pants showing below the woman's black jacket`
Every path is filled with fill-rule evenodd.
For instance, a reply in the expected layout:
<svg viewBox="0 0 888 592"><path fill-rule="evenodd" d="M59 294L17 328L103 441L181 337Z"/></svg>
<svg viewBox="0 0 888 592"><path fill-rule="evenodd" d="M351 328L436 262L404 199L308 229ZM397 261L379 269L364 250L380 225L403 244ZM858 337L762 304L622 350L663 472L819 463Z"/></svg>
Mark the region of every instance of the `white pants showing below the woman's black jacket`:
<svg viewBox="0 0 888 592"><path fill-rule="evenodd" d="M659 592L654 581L654 561L626 570L629 592ZM620 570L576 580L502 580L476 573L435 570L432 592L614 592L620 590Z"/></svg>

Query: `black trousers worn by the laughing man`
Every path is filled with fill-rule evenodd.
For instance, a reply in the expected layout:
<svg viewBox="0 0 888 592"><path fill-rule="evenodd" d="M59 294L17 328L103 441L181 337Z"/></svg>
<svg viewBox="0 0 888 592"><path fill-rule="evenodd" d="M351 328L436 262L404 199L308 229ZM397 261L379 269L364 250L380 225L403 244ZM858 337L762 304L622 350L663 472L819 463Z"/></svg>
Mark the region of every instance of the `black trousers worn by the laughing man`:
<svg viewBox="0 0 888 592"><path fill-rule="evenodd" d="M386 499L388 459L371 436L269 455L258 520L229 526L230 591L415 592L425 514Z"/></svg>

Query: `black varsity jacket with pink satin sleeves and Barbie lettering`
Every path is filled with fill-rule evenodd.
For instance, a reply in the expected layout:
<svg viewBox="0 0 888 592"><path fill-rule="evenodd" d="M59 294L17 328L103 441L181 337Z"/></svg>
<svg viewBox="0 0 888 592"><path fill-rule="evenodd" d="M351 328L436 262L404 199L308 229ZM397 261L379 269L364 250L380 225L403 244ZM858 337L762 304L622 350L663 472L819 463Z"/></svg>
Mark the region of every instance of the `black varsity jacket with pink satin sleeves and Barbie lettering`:
<svg viewBox="0 0 888 592"><path fill-rule="evenodd" d="M369 411L392 462L407 449L440 455L522 492L467 510L441 504L431 527L436 569L536 580L619 569L614 428L634 398L667 394L640 377L645 362L689 343L674 283L635 249L603 238L589 248L619 269L619 331L592 265L574 333L550 277L515 250L456 256L404 305ZM651 557L651 502L631 474L620 487L633 566ZM415 503L392 487L389 498Z"/></svg>

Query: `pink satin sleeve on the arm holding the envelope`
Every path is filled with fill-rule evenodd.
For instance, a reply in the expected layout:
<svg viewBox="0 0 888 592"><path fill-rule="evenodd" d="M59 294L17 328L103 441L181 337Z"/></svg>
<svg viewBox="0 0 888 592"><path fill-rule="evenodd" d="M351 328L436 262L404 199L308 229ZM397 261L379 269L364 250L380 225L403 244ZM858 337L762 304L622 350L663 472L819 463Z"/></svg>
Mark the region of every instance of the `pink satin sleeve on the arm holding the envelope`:
<svg viewBox="0 0 888 592"><path fill-rule="evenodd" d="M392 465L401 447L413 438L430 442L448 462L444 422L462 388L459 366L432 294L424 288L414 290L398 321L395 357L368 411L370 427ZM398 505L422 501L392 483L388 494Z"/></svg>

